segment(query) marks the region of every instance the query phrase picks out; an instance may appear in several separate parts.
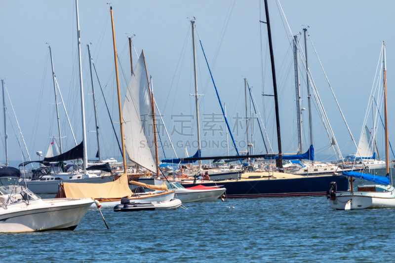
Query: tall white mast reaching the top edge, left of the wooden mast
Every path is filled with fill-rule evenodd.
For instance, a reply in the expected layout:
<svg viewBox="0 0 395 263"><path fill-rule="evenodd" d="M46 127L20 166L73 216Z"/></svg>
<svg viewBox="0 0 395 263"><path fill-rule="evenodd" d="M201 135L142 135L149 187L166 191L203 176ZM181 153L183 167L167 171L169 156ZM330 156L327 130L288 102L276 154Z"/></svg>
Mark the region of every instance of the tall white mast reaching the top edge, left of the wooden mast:
<svg viewBox="0 0 395 263"><path fill-rule="evenodd" d="M83 143L83 172L86 173L88 166L88 151L86 145L86 128L85 128L85 107L83 102L83 86L82 86L82 64L81 64L81 39L79 34L79 15L78 15L78 0L76 0L76 13L77 13L77 39L78 39L78 66L79 66L79 86L81 90L81 113L82 113L82 143Z"/></svg>

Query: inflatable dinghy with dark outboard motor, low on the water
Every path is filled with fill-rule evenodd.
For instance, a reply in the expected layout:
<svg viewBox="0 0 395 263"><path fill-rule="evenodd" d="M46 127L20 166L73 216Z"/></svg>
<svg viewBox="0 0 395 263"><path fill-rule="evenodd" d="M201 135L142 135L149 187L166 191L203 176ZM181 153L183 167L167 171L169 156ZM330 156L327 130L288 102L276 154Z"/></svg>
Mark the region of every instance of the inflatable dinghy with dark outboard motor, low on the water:
<svg viewBox="0 0 395 263"><path fill-rule="evenodd" d="M180 199L171 199L166 202L132 203L122 200L122 203L114 207L114 212L137 212L154 210L175 210L182 204Z"/></svg>

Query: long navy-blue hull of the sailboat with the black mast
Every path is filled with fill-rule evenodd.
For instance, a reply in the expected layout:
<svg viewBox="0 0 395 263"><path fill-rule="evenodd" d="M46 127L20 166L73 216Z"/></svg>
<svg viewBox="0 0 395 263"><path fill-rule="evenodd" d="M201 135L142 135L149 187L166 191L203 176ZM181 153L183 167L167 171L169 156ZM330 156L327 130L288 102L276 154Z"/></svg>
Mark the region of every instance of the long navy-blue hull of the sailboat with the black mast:
<svg viewBox="0 0 395 263"><path fill-rule="evenodd" d="M345 176L312 176L293 179L274 180L234 180L211 183L199 183L203 186L221 186L226 188L228 198L259 198L259 197L287 197L287 196L319 196L325 195L331 182L336 182L338 191L348 190ZM198 184L185 184L185 188Z"/></svg>

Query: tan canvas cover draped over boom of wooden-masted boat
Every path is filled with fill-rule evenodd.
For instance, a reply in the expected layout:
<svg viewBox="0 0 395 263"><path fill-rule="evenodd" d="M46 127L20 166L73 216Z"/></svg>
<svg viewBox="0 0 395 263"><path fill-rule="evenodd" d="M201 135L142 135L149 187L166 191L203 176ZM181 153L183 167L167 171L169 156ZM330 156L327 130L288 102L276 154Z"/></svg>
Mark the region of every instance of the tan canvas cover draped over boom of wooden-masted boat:
<svg viewBox="0 0 395 263"><path fill-rule="evenodd" d="M55 198L121 198L133 194L127 184L127 175L103 184L63 183Z"/></svg>

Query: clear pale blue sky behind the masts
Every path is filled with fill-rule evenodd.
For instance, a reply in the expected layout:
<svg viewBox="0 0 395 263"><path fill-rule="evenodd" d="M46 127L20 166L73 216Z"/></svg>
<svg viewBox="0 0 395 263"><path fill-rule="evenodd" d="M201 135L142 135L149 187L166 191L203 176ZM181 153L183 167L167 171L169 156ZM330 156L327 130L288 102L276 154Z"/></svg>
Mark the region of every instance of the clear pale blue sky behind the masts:
<svg viewBox="0 0 395 263"><path fill-rule="evenodd" d="M386 41L389 130L390 141L395 141L391 132L395 128L392 121L394 117L391 115L395 110L392 88L395 68L392 59L395 51L392 25L395 24L395 18L392 10L395 3L327 0L268 0L268 2L279 96L282 151L295 153L298 150L291 39L293 35L301 32L302 35L298 35L298 38L304 50L303 28L306 27L356 143L359 141L365 112L371 99L369 96L382 42ZM82 79L89 159L94 159L97 151L96 134L93 132L95 124L92 87L86 47L89 43L91 43L92 58L98 76L98 79L94 77L94 87L101 152L104 158L119 158L120 155L103 99L106 99L119 138L114 47L110 4L107 3L108 1L102 0L79 1ZM77 143L82 141L76 4L73 0L1 0L0 6L0 78L4 79L30 158L36 160L38 159L36 151L45 154L53 141L51 137L59 137L48 45L52 48L55 75L76 141ZM244 78L246 78L268 134L267 137L264 136L267 148L272 147L274 152L277 151L273 97L262 96L262 93L273 94L267 27L266 24L259 22L266 21L263 0L118 0L111 3L111 6L114 11L122 102L131 77L127 37L133 36L133 64L137 63L137 54L140 56L141 50L144 49L148 74L153 78L155 99L164 124L171 134L178 157L185 155L185 148L190 155L197 150L196 143L193 144L197 140L196 117L192 118L196 114L195 97L190 95L195 93L190 22L192 19L195 19L197 29L195 34L198 94L203 95L199 96L201 140L206 144L202 149L202 155L225 155L227 148L216 145L226 141L226 126L198 38L204 48L221 102L226 103L227 117L238 143L238 150L246 150L245 144L241 143L246 140L243 132L245 120L238 122L237 119L237 116L245 116ZM307 48L309 68L342 154L355 153L356 147L337 108L310 38ZM306 151L310 144L308 99L306 73L302 70L300 77L302 107L306 109L302 114L303 151ZM8 110L6 114L8 154L9 159L17 163L22 159L21 148L18 145L18 140L22 141L22 137L18 132L7 93L5 101ZM250 114L249 98L247 104ZM58 104L58 106L63 149L69 150L75 146L75 142L63 105ZM313 108L312 112L316 158L336 159L333 151L329 149L330 141L316 108ZM179 117L181 113L191 116ZM2 115L0 121L3 121ZM215 121L212 121L213 118ZM373 123L372 118L369 118L366 125L371 129ZM181 122L176 120L184 120L184 126L190 128L181 131ZM376 123L376 126L379 125ZM2 127L1 124L0 160L5 159ZM182 135L179 134L181 132ZM384 151L382 135L382 129L378 130L377 144L380 153ZM169 145L167 135L161 133L160 136L162 143L167 147ZM251 134L249 136L251 138ZM253 127L253 140L254 153L265 153L257 122ZM229 144L231 144L230 135ZM23 144L22 152L27 158ZM164 151L159 149L159 159L162 159L164 154L166 158L175 157L171 148L166 148ZM236 154L233 147L230 147L230 154Z"/></svg>

